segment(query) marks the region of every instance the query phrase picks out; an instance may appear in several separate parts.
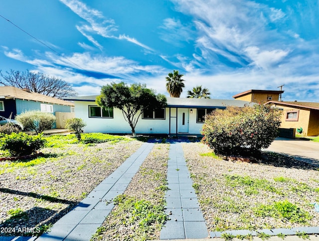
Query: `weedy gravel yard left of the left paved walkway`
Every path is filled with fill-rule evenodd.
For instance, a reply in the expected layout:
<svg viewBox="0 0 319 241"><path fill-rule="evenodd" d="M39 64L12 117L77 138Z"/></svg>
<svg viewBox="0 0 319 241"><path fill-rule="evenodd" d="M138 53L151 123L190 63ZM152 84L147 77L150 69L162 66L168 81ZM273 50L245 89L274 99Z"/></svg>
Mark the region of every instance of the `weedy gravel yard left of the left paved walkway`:
<svg viewBox="0 0 319 241"><path fill-rule="evenodd" d="M142 142L121 137L106 143L79 144L74 137L48 145L52 147L41 150L44 157L0 162L0 229L6 231L0 236L26 235L17 232L23 227L45 231Z"/></svg>

